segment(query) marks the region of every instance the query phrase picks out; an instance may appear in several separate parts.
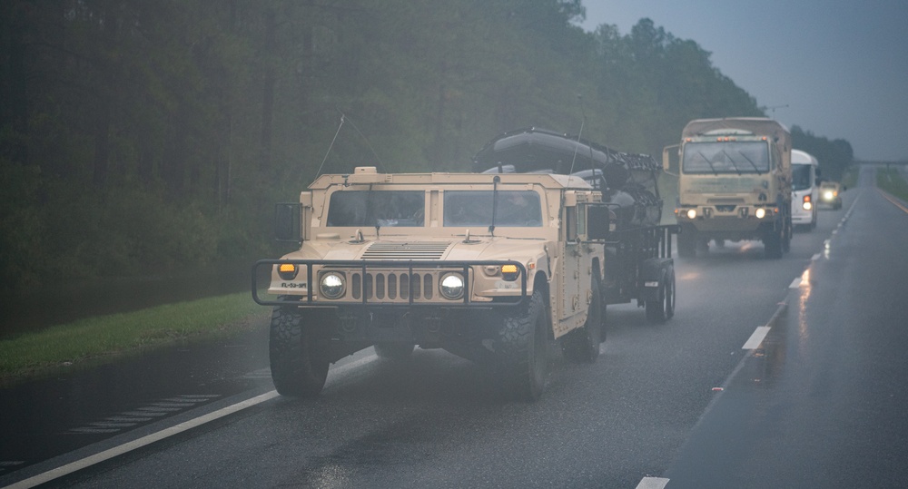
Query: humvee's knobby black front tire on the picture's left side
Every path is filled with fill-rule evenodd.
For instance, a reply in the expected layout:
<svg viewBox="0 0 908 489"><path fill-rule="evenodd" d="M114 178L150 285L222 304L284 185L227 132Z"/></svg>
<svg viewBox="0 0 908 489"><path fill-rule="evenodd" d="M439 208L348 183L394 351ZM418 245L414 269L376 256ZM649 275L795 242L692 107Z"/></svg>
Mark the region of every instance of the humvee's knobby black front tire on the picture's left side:
<svg viewBox="0 0 908 489"><path fill-rule="evenodd" d="M328 345L324 325L331 318L327 311L305 312L300 308L277 306L271 314L269 359L271 381L281 396L314 397L321 393L328 378Z"/></svg>

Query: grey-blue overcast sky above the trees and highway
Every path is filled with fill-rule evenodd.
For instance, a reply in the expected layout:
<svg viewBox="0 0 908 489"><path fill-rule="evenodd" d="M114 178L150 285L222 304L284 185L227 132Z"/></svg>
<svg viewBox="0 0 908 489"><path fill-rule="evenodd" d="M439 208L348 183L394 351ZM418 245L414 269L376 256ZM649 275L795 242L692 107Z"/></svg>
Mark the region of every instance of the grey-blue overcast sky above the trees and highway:
<svg viewBox="0 0 908 489"><path fill-rule="evenodd" d="M857 159L908 160L908 0L583 4L587 31L615 24L629 34L648 17L712 53L713 66L788 127L844 139Z"/></svg>

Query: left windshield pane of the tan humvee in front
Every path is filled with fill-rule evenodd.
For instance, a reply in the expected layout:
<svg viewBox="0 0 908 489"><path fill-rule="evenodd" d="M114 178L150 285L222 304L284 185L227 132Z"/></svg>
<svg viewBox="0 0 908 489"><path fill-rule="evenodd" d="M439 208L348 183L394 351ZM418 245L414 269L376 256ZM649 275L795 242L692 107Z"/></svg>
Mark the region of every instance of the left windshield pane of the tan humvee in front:
<svg viewBox="0 0 908 489"><path fill-rule="evenodd" d="M423 226L424 191L335 191L328 204L331 226Z"/></svg>

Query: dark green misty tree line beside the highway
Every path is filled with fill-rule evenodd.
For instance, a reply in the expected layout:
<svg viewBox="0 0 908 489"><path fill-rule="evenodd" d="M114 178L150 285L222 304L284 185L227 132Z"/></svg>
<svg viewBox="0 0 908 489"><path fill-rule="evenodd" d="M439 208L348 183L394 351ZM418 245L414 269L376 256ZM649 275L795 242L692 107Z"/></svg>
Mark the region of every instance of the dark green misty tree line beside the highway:
<svg viewBox="0 0 908 489"><path fill-rule="evenodd" d="M581 0L6 0L0 287L272 256L273 202L317 173L467 171L518 127L657 154L691 119L764 115L695 41L583 16Z"/></svg>

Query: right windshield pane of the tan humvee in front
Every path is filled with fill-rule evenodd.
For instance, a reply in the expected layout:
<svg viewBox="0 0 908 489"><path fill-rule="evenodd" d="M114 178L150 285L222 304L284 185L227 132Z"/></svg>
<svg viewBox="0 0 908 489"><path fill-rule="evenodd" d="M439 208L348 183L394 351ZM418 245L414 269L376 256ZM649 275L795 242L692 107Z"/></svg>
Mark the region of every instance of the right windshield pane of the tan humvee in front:
<svg viewBox="0 0 908 489"><path fill-rule="evenodd" d="M445 226L490 226L493 207L496 227L542 226L535 191L446 191L444 205Z"/></svg>

